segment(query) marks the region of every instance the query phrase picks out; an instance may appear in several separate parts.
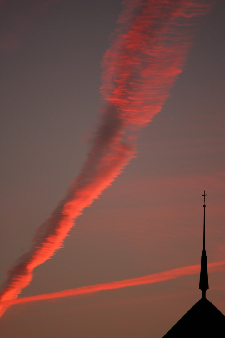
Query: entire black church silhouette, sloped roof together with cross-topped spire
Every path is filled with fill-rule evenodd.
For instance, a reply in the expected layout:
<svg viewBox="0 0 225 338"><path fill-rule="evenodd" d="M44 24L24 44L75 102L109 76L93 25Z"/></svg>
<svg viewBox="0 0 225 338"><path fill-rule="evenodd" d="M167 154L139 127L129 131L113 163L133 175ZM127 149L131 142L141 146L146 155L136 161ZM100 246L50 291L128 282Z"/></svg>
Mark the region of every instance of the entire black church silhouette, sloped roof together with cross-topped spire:
<svg viewBox="0 0 225 338"><path fill-rule="evenodd" d="M208 299L207 256L205 251L205 194L204 191L203 250L199 289L202 298L196 303L163 338L225 338L225 316Z"/></svg>

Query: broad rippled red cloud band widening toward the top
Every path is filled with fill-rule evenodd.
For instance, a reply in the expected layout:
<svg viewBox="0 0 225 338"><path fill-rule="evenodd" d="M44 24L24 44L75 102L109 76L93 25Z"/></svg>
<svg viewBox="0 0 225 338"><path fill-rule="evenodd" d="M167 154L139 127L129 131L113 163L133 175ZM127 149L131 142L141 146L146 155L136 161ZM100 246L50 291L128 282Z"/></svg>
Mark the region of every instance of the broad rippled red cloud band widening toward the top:
<svg viewBox="0 0 225 338"><path fill-rule="evenodd" d="M208 3L208 1L207 1ZM9 271L5 302L30 284L33 269L51 258L84 208L98 198L135 155L134 133L151 121L184 67L197 18L210 6L201 0L125 0L111 47L103 58L105 107L80 174L33 245ZM0 313L4 313L4 303Z"/></svg>

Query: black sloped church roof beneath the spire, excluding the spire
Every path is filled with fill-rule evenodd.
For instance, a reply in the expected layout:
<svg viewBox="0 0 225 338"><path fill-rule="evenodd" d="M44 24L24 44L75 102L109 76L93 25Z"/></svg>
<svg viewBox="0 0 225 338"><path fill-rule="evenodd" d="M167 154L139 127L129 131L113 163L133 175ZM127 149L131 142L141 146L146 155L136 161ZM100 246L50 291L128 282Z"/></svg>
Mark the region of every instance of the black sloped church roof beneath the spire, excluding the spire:
<svg viewBox="0 0 225 338"><path fill-rule="evenodd" d="M163 338L224 338L225 316L201 298Z"/></svg>

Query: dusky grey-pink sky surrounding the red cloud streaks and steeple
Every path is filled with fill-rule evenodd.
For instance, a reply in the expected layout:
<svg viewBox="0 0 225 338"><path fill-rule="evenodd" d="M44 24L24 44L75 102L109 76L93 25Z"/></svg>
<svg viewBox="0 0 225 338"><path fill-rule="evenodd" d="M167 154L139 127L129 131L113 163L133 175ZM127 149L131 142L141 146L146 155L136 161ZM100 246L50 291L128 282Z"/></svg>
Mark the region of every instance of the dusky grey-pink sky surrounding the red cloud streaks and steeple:
<svg viewBox="0 0 225 338"><path fill-rule="evenodd" d="M1 4L1 269L29 251L79 174L99 125L101 62L120 1ZM137 130L137 153L34 269L20 297L129 280L208 262L224 250L225 3L201 18L162 110ZM219 271L222 270L222 271ZM225 314L225 272L206 297ZM1 338L162 337L201 297L199 274L9 307Z"/></svg>

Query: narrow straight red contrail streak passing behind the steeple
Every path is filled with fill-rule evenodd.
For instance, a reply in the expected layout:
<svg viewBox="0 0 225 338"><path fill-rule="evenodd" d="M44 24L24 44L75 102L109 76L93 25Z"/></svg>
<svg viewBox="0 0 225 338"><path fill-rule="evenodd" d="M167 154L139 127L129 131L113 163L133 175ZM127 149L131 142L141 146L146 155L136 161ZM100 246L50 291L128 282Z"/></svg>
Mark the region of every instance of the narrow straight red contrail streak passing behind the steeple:
<svg viewBox="0 0 225 338"><path fill-rule="evenodd" d="M209 263L208 264L208 272L216 272L216 271L224 271L225 270L225 261ZM100 292L106 290L114 290L120 288L126 288L129 286L137 286L143 284L151 284L157 282L168 281L170 279L175 279L182 276L192 275L200 272L200 264L199 265L190 265L181 268L175 268L163 272L151 273L149 275L125 279L122 281L103 283L97 285L83 286L81 288L63 290L59 292L52 292L37 296L30 297L21 297L15 300L11 300L6 302L7 305L14 304L22 304L22 303L30 303L38 300L46 300L53 298L62 298L69 296L80 296L87 293Z"/></svg>

